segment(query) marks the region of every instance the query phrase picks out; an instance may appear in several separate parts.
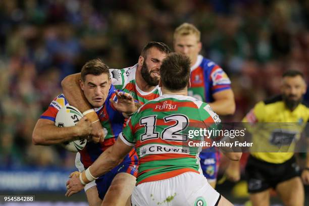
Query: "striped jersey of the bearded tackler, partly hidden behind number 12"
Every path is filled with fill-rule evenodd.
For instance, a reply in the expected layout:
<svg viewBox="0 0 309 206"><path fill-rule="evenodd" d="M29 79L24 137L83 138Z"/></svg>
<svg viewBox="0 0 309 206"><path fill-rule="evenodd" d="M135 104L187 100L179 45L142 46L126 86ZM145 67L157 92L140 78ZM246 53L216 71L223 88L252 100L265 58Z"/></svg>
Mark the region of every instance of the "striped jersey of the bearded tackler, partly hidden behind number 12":
<svg viewBox="0 0 309 206"><path fill-rule="evenodd" d="M116 89L121 89L124 92L131 94L134 99L138 100L141 104L159 97L162 92L159 86L156 86L152 91L144 92L136 85L135 72L137 64L133 67L124 69L110 69L112 84Z"/></svg>

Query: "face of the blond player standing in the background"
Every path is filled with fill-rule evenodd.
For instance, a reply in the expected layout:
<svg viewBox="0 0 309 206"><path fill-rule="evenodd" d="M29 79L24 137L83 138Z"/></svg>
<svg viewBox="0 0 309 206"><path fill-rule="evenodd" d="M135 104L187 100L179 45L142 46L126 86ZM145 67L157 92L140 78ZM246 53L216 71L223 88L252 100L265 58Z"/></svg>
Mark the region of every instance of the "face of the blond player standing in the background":
<svg viewBox="0 0 309 206"><path fill-rule="evenodd" d="M198 53L201 49L201 43L194 34L177 35L174 39L174 49L175 52L188 56L192 66L197 60Z"/></svg>

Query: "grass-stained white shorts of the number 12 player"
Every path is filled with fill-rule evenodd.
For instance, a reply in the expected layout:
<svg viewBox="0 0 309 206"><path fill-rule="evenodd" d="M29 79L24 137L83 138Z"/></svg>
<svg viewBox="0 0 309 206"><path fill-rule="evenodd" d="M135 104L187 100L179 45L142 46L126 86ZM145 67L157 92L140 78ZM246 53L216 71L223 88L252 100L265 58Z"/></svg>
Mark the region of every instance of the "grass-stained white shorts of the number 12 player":
<svg viewBox="0 0 309 206"><path fill-rule="evenodd" d="M131 202L134 206L214 206L220 197L203 175L187 172L170 179L137 185Z"/></svg>

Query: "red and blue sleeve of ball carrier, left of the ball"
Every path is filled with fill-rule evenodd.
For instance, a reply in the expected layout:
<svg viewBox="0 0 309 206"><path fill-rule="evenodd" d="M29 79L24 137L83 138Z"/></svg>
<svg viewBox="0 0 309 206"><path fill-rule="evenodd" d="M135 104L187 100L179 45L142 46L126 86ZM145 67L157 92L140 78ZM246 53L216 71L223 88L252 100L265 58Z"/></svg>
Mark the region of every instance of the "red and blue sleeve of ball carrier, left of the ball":
<svg viewBox="0 0 309 206"><path fill-rule="evenodd" d="M48 106L47 110L40 116L40 119L47 119L55 122L58 111L68 104L63 94L60 94Z"/></svg>

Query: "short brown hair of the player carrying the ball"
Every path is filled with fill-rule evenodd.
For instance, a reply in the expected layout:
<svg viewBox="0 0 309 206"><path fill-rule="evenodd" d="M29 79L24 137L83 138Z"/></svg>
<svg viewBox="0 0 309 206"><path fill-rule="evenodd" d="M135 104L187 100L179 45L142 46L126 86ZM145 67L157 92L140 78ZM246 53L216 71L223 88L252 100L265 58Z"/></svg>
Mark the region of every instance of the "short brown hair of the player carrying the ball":
<svg viewBox="0 0 309 206"><path fill-rule="evenodd" d="M81 70L81 79L82 81L85 81L87 74L98 76L103 73L108 74L110 77L109 67L100 59L90 60L83 66Z"/></svg>

